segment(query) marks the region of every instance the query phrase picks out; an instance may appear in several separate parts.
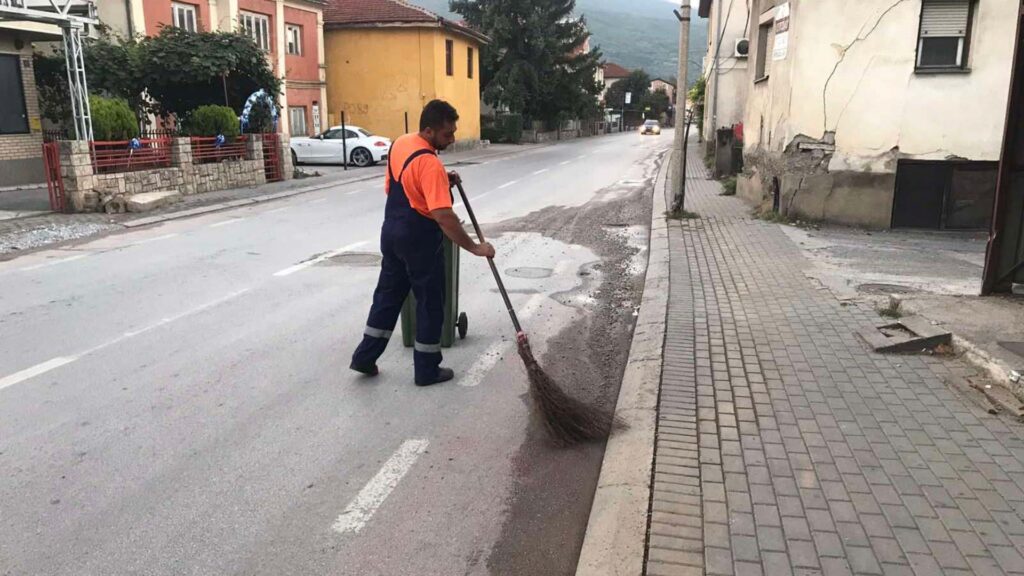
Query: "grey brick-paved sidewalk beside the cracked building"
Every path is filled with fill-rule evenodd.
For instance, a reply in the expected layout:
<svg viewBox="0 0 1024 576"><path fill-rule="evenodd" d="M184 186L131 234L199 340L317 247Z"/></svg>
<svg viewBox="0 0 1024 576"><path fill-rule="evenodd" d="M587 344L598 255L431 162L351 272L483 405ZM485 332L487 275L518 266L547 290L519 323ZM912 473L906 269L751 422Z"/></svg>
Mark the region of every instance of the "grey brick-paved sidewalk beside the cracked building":
<svg viewBox="0 0 1024 576"><path fill-rule="evenodd" d="M956 361L869 353L877 314L690 158L647 574L1024 574L1024 424L954 392Z"/></svg>

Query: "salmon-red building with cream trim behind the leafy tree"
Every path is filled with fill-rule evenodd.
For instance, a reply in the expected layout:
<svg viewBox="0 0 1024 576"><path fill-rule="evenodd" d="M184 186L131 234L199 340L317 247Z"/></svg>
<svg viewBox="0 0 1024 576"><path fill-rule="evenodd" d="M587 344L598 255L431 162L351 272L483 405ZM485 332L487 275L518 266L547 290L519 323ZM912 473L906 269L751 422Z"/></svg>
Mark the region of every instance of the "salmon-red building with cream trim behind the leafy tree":
<svg viewBox="0 0 1024 576"><path fill-rule="evenodd" d="M98 0L100 22L123 37L153 36L165 26L193 32L244 31L284 79L281 131L324 129L327 83L321 0Z"/></svg>

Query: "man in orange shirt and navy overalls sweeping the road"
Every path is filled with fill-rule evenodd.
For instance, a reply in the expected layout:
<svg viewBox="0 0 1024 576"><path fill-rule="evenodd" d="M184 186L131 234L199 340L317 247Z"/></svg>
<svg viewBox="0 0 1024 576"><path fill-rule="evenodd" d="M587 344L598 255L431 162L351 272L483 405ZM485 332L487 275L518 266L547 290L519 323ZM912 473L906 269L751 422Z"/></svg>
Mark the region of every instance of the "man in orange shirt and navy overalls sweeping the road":
<svg viewBox="0 0 1024 576"><path fill-rule="evenodd" d="M418 386L451 380L442 368L441 328L444 322L444 251L442 236L460 248L493 258L495 248L466 234L452 209L452 186L459 174L445 172L437 153L455 141L459 113L452 105L432 100L420 115L420 131L391 146L387 165L387 203L381 228L381 274L362 342L352 355L351 369L368 376L378 373L384 354L412 290L416 296L416 345L413 358Z"/></svg>

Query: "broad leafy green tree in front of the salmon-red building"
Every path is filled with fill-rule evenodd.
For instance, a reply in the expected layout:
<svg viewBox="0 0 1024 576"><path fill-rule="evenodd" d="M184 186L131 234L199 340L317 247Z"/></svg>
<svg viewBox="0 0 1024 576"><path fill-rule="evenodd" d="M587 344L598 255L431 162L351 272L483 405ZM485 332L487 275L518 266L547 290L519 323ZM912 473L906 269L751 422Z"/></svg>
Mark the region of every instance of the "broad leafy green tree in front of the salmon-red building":
<svg viewBox="0 0 1024 576"><path fill-rule="evenodd" d="M182 115L209 104L241 112L260 88L274 99L281 93L281 79L245 34L165 27L142 40L140 56L141 84L160 114Z"/></svg>

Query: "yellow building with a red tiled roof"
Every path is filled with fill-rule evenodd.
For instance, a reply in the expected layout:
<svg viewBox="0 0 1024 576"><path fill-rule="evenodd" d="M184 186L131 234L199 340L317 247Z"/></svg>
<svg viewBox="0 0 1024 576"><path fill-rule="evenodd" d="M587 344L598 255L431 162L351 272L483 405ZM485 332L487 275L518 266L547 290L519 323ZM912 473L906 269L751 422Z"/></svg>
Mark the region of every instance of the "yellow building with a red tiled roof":
<svg viewBox="0 0 1024 576"><path fill-rule="evenodd" d="M439 98L459 111L459 140L480 138L486 36L401 0L332 0L324 28L331 125L345 112L346 123L396 138Z"/></svg>

